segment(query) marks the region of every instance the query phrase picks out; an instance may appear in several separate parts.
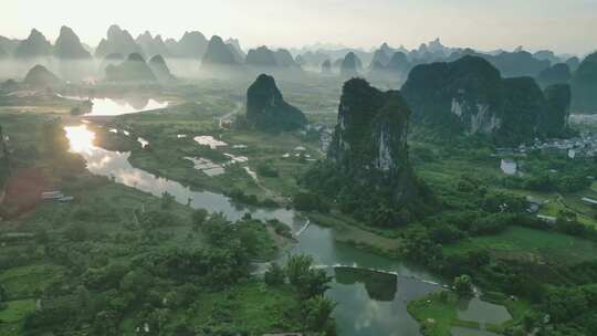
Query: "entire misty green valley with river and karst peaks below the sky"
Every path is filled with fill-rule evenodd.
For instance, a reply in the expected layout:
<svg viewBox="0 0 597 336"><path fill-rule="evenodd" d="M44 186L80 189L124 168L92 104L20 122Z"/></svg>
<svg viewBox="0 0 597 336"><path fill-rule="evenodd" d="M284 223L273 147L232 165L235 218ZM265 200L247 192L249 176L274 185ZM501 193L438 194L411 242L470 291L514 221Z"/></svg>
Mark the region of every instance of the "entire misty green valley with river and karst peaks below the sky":
<svg viewBox="0 0 597 336"><path fill-rule="evenodd" d="M2 336L597 333L596 53L0 38Z"/></svg>

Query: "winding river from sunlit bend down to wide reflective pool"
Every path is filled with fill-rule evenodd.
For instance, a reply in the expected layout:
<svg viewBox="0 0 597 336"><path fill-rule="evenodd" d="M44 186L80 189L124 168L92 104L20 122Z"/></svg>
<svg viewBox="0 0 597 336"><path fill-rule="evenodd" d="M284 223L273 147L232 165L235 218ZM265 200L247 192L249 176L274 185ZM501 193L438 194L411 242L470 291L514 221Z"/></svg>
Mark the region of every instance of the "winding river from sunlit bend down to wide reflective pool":
<svg viewBox="0 0 597 336"><path fill-rule="evenodd" d="M310 254L318 267L335 275L326 294L338 303L334 312L338 335L420 335L419 325L406 306L409 301L441 288L432 274L337 243L333 229L316 223L305 225L308 220L293 210L241 207L226 196L195 191L177 181L137 169L128 161L129 153L94 146L95 134L84 124L67 126L65 132L71 150L85 159L92 174L157 197L167 191L180 203L223 212L230 220L250 212L253 218L277 219L291 225L293 232L300 234L296 234L297 244L290 253Z"/></svg>

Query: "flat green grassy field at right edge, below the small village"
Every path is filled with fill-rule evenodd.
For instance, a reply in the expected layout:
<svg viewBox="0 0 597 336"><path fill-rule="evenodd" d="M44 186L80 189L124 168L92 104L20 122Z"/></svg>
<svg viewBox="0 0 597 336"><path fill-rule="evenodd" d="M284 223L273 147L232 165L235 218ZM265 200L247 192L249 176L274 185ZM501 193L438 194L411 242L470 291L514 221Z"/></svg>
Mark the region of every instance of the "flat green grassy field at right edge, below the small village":
<svg viewBox="0 0 597 336"><path fill-rule="evenodd" d="M446 245L447 255L485 249L503 259L536 263L570 264L597 260L597 244L580 238L556 232L511 227L494 235L476 237Z"/></svg>

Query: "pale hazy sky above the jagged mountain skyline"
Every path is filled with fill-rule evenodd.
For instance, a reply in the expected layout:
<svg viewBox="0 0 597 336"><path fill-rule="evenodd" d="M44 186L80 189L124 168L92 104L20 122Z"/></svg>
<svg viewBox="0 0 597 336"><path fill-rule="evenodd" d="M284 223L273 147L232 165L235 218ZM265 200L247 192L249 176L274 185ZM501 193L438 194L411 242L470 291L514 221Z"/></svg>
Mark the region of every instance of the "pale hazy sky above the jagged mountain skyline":
<svg viewBox="0 0 597 336"><path fill-rule="evenodd" d="M235 36L244 48L316 42L371 48L446 45L479 50L597 49L597 0L2 0L0 34L25 38L31 28L54 40L62 24L95 45L109 24L135 36L149 30L180 38Z"/></svg>

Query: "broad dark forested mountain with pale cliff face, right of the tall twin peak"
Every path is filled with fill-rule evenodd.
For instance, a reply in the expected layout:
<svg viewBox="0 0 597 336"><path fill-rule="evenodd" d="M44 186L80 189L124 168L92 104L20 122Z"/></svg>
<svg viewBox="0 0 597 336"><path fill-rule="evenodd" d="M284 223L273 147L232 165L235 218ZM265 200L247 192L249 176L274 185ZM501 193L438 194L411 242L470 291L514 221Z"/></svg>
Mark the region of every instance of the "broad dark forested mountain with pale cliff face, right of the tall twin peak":
<svg viewBox="0 0 597 336"><path fill-rule="evenodd" d="M495 66L479 56L417 65L401 92L413 122L451 133L485 134L519 144L562 135L567 125L562 117L566 113L551 109L533 78L502 78ZM569 102L559 104L566 105Z"/></svg>

